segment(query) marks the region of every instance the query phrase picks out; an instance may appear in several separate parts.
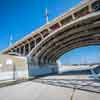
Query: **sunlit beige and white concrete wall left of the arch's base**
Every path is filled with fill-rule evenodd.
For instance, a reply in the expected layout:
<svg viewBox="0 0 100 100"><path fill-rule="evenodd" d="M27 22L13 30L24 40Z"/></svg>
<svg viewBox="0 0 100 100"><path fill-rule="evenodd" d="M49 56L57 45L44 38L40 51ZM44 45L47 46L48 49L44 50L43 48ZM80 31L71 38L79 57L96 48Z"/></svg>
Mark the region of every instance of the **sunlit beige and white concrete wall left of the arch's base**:
<svg viewBox="0 0 100 100"><path fill-rule="evenodd" d="M0 80L28 78L26 57L0 54Z"/></svg>

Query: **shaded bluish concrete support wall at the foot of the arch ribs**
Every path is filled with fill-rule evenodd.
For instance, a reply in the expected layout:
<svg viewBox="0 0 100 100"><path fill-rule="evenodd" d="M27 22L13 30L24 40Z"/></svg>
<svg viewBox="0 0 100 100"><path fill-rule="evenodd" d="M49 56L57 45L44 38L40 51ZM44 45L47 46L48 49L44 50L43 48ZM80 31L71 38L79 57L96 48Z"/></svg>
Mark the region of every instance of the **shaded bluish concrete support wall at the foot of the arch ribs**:
<svg viewBox="0 0 100 100"><path fill-rule="evenodd" d="M28 61L28 74L29 78L36 77L36 76L45 76L49 74L56 74L58 73L58 66L57 64L34 64L34 61Z"/></svg>

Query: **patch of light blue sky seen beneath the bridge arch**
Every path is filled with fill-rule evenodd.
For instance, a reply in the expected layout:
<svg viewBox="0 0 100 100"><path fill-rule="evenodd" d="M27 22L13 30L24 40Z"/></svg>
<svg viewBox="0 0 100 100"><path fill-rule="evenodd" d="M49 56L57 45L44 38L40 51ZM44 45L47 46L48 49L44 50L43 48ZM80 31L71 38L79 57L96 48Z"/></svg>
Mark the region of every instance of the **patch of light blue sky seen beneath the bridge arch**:
<svg viewBox="0 0 100 100"><path fill-rule="evenodd" d="M100 62L100 46L86 46L76 48L65 53L60 58L63 64L84 64Z"/></svg>

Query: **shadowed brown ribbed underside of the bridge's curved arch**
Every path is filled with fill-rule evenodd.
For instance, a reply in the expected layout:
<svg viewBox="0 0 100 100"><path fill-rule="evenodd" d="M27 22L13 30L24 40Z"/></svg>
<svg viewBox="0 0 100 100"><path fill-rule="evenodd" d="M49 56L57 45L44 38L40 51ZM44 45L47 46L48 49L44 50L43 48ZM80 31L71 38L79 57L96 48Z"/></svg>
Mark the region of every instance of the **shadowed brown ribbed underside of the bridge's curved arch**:
<svg viewBox="0 0 100 100"><path fill-rule="evenodd" d="M56 64L56 60L72 49L100 45L100 12L79 18L54 31L30 52L34 64Z"/></svg>

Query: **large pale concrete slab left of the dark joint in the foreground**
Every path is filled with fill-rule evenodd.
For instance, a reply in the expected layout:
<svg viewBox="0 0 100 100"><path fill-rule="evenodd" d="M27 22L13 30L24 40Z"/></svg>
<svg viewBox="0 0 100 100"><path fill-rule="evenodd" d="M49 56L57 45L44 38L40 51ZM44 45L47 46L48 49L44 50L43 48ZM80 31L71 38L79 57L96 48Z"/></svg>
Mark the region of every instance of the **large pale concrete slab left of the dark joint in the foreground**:
<svg viewBox="0 0 100 100"><path fill-rule="evenodd" d="M66 100L72 89L26 82L0 88L0 100Z"/></svg>

